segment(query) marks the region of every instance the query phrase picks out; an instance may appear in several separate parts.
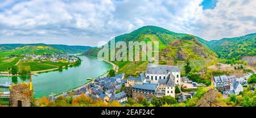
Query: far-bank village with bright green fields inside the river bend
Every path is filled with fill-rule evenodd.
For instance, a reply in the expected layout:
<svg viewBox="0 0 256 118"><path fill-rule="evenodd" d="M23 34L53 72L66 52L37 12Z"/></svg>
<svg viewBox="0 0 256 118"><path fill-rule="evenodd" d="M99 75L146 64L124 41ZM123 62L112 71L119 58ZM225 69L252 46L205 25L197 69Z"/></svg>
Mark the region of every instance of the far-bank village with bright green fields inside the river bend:
<svg viewBox="0 0 256 118"><path fill-rule="evenodd" d="M20 56L10 55L6 56L6 59L13 60L13 62L3 66L6 70L0 71L0 76L18 76L28 75L30 72L40 73L56 71L57 69L67 68L70 65L75 65L77 62L81 62L76 55L46 53L42 55L34 53L22 54Z"/></svg>

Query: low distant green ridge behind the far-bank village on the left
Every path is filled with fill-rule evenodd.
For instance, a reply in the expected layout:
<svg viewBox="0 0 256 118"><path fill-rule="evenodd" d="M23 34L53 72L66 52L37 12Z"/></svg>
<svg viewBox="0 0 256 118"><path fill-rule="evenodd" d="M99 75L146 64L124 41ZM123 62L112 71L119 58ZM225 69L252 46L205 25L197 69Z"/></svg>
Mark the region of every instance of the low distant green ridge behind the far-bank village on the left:
<svg viewBox="0 0 256 118"><path fill-rule="evenodd" d="M75 54L84 53L90 49L89 46L67 46L67 45L46 45L43 43L36 44L0 44L0 55L18 55L18 54Z"/></svg>

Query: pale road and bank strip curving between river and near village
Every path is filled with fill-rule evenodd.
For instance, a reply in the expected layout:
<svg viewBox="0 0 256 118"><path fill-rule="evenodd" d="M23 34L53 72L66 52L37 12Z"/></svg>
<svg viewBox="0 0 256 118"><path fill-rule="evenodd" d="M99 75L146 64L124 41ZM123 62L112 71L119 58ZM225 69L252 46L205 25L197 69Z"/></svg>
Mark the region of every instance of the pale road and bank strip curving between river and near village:
<svg viewBox="0 0 256 118"><path fill-rule="evenodd" d="M96 58L96 57L94 57L94 56L87 56L87 57ZM119 67L118 67L117 65L115 65L114 63L112 63L112 62L110 62L110 61L108 61L108 60L101 59L101 58L96 58L96 59L100 59L100 60L102 60L102 61L104 61L104 62L107 62L107 63L109 63L109 64L112 64L112 68L115 70L115 72L118 72L118 68L119 68ZM101 75L101 76L99 76L99 77L102 78L102 77L106 77L107 75L108 75L108 72L106 72L104 75ZM58 98L58 97L60 97L60 96L64 96L65 94L68 94L69 92L77 91L77 90L79 90L79 89L81 89L81 88L86 88L86 86L87 86L88 84L94 82L94 79L95 79L95 78L93 78L93 80L88 81L88 82L86 82L84 85L81 85L81 86L79 86L79 87L77 87L77 88L68 90L68 91L64 92L63 94L56 95L55 98Z"/></svg>

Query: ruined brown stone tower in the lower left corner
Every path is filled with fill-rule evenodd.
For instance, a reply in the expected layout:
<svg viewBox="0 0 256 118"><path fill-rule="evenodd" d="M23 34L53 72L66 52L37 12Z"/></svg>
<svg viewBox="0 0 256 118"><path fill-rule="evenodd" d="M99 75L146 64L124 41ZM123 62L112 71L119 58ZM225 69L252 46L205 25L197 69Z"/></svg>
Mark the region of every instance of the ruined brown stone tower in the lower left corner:
<svg viewBox="0 0 256 118"><path fill-rule="evenodd" d="M31 107L32 92L30 84L21 83L10 86L11 107Z"/></svg>

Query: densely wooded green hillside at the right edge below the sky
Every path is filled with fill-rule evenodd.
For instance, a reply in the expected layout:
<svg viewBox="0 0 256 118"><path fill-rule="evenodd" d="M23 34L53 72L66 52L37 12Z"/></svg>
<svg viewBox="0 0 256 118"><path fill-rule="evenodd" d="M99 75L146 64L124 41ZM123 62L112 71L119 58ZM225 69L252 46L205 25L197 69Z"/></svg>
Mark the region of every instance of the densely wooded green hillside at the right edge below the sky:
<svg viewBox="0 0 256 118"><path fill-rule="evenodd" d="M243 56L256 55L256 33L234 38L222 38L210 41L210 49L218 54L219 58L242 59Z"/></svg>

